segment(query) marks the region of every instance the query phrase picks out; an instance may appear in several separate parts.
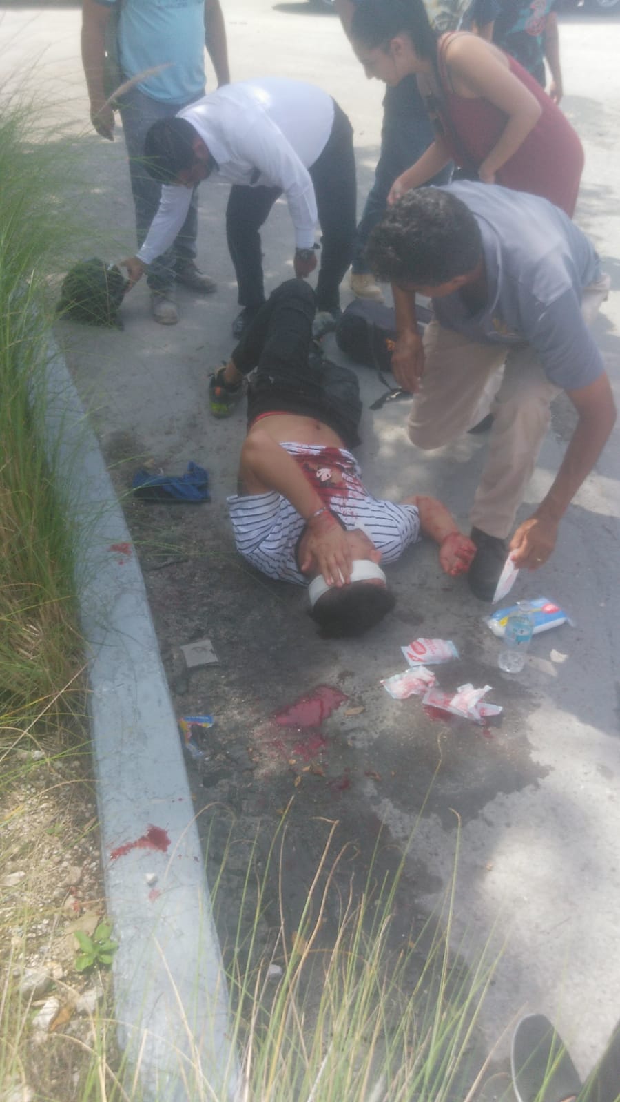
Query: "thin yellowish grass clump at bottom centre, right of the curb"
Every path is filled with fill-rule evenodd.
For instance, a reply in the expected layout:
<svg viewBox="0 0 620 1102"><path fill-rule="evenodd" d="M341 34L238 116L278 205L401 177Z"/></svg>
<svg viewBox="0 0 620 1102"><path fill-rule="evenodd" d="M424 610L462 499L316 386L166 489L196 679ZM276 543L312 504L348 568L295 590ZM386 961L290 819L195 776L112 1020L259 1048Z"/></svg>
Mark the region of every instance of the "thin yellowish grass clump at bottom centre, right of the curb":
<svg viewBox="0 0 620 1102"><path fill-rule="evenodd" d="M267 868L254 886L248 866L235 942L224 947L240 1098L472 1102L488 1067L477 1020L496 953L490 944L469 951L475 963L467 968L450 949L456 869L443 906L404 939L394 916L405 857L391 876L371 867L362 893L352 882L343 898L335 876L349 847L332 855L336 827L295 928L274 845L269 864L278 866L280 926L267 953L258 929L272 876ZM327 920L334 892L335 929Z"/></svg>

